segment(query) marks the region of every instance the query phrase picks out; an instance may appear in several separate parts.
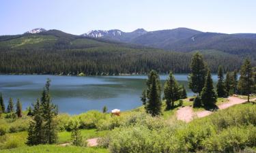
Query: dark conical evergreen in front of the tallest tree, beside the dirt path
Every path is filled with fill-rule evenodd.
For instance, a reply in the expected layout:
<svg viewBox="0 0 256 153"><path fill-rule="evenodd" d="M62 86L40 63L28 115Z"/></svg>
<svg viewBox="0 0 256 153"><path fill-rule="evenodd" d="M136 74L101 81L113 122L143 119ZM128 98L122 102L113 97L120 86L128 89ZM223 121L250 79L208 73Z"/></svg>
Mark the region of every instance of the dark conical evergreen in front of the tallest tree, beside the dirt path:
<svg viewBox="0 0 256 153"><path fill-rule="evenodd" d="M213 82L212 82L212 75L211 75L210 71L208 71L208 74L207 74L206 80L205 80L205 85L201 92L201 100L205 107L214 106L214 104L216 103L216 100L217 100L217 96L214 91L214 86L213 86Z"/></svg>

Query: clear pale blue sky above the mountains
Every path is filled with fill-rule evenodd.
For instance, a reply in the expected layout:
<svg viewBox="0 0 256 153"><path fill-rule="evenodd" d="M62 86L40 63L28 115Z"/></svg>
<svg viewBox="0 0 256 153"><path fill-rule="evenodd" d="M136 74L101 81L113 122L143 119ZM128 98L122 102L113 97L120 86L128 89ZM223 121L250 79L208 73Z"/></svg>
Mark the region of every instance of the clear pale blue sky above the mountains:
<svg viewBox="0 0 256 153"><path fill-rule="evenodd" d="M93 29L147 31L187 27L256 33L255 0L1 0L0 35L36 27L82 34Z"/></svg>

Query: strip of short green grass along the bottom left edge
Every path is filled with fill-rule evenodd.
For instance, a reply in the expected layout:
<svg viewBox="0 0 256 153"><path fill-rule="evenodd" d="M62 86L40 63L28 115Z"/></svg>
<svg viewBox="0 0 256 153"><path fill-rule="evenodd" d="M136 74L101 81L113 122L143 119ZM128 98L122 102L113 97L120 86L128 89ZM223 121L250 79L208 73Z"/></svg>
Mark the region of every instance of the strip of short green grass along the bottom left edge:
<svg viewBox="0 0 256 153"><path fill-rule="evenodd" d="M1 153L108 153L109 150L104 148L84 148L84 147L76 147L76 146L56 146L56 145L40 145L40 146L32 146L32 147L20 147L14 148L10 150L1 150Z"/></svg>

